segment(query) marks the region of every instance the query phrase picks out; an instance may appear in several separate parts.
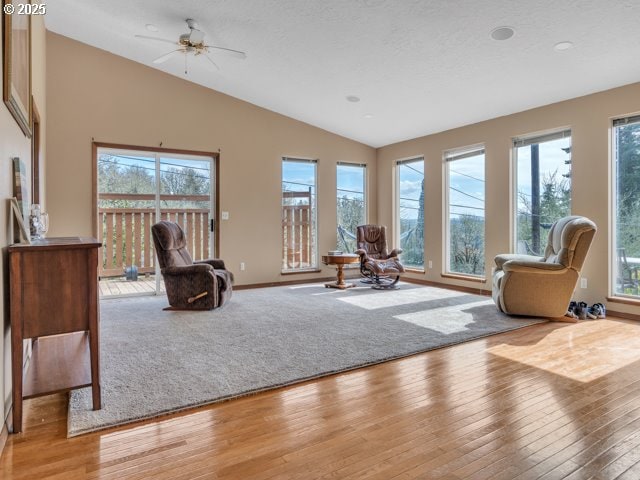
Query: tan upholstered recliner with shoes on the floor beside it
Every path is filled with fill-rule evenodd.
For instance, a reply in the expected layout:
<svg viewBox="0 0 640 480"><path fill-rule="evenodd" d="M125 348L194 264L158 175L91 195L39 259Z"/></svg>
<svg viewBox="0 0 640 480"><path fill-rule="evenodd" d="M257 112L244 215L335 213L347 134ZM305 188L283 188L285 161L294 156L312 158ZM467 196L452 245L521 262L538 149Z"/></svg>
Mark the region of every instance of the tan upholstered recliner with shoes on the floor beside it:
<svg viewBox="0 0 640 480"><path fill-rule="evenodd" d="M564 316L595 233L588 218L564 217L551 226L544 257L497 255L493 300L498 309L513 315Z"/></svg>

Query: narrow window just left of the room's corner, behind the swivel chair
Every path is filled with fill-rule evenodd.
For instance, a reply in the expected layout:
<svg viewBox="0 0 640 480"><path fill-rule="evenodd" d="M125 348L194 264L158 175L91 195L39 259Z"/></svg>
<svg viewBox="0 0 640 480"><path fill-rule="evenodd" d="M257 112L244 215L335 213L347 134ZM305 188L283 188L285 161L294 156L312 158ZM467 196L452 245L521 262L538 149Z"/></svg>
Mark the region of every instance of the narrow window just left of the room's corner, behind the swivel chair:
<svg viewBox="0 0 640 480"><path fill-rule="evenodd" d="M356 227L367 223L364 193L366 174L366 165L338 163L336 170L337 248L343 252L356 251Z"/></svg>

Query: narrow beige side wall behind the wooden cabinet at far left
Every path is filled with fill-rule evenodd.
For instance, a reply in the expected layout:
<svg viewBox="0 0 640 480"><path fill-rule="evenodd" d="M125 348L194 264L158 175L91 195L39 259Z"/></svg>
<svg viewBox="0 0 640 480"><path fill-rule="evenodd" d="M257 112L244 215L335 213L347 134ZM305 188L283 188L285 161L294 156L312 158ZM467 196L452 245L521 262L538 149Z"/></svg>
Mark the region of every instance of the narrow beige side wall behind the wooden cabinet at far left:
<svg viewBox="0 0 640 480"><path fill-rule="evenodd" d="M1 23L1 22L0 22ZM46 131L46 89L44 72L45 60L45 28L42 17L32 18L32 94L41 116L41 129ZM0 78L0 89L2 78ZM44 143L44 142L43 142ZM41 161L44 162L44 149L41 148ZM11 158L20 157L27 168L31 165L31 140L25 137L22 130L7 110L4 103L0 106L0 312L2 312L2 342L0 342L0 405L2 419L6 418L11 406L11 330L8 310L9 278L7 254L5 247L13 243L13 228L9 214L7 198L13 196ZM30 177L29 177L30 178Z"/></svg>

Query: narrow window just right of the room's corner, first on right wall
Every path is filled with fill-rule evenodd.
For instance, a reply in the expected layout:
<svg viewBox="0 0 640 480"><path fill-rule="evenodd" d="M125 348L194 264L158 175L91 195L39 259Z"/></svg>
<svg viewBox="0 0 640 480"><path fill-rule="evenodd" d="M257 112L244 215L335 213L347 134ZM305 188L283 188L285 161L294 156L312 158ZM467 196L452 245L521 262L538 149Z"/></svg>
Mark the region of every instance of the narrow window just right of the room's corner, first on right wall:
<svg viewBox="0 0 640 480"><path fill-rule="evenodd" d="M424 269L424 158L397 163L398 232L402 263Z"/></svg>

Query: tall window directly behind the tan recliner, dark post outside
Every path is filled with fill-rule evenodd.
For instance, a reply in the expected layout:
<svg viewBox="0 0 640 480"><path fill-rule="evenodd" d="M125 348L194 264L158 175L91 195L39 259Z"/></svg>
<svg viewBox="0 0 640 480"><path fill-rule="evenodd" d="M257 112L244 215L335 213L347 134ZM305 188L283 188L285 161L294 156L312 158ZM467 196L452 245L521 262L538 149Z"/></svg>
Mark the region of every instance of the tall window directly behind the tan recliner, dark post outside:
<svg viewBox="0 0 640 480"><path fill-rule="evenodd" d="M549 228L571 214L571 130L516 138L515 251L544 254Z"/></svg>

